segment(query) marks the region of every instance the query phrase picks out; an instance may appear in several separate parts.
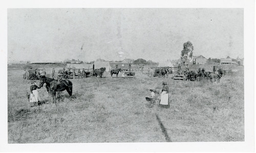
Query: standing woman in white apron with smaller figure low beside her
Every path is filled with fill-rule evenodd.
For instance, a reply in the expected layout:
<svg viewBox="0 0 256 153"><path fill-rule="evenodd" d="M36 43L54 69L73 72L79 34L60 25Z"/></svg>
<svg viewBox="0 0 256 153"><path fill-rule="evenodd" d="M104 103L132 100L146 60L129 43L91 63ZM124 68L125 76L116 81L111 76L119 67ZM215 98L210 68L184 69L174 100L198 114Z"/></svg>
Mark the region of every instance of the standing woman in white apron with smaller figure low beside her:
<svg viewBox="0 0 256 153"><path fill-rule="evenodd" d="M159 102L159 106L161 108L170 108L170 99L169 99L169 87L167 86L167 82L163 82L162 83L163 88L161 91L161 98L160 98L160 102ZM158 99L158 96L156 94L158 94L158 92L156 90L150 90L151 91L151 98L154 99L154 101L156 102Z"/></svg>

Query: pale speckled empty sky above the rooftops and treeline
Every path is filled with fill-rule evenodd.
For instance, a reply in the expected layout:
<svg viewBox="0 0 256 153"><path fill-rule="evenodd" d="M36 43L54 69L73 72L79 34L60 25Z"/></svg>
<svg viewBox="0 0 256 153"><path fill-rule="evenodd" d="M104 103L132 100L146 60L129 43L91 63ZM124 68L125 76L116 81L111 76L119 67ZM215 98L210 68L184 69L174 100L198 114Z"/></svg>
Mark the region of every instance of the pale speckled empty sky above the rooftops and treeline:
<svg viewBox="0 0 256 153"><path fill-rule="evenodd" d="M8 61L161 62L179 59L187 41L207 59L243 58L243 16L243 9L8 9Z"/></svg>

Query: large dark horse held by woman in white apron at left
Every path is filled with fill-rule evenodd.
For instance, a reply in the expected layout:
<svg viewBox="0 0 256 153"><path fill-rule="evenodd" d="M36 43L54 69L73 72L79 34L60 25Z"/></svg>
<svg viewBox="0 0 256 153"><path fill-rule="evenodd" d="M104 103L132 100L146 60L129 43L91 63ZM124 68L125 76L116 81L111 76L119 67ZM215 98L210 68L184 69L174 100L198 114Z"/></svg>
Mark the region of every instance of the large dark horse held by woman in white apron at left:
<svg viewBox="0 0 256 153"><path fill-rule="evenodd" d="M58 82L57 80L41 76L39 78L40 84L39 87L42 87L46 83L46 89L51 96L53 96L53 100L56 103L56 92L67 90L69 95L72 96L72 82L69 80L62 80Z"/></svg>

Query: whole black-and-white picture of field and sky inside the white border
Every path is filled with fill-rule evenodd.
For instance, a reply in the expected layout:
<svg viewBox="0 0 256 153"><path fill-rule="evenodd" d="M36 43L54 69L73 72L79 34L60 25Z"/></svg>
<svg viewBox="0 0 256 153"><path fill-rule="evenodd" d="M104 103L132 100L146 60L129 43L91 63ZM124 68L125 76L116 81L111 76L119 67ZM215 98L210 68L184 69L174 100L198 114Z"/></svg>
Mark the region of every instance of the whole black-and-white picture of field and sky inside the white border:
<svg viewBox="0 0 256 153"><path fill-rule="evenodd" d="M6 11L8 144L245 142L244 8Z"/></svg>

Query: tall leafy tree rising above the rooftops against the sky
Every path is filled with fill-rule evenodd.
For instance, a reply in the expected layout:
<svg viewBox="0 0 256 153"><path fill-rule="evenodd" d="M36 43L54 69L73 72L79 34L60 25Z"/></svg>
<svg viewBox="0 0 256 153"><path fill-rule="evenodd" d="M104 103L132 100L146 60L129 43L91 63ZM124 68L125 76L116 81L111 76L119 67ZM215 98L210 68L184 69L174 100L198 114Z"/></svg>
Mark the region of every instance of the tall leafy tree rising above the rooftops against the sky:
<svg viewBox="0 0 256 153"><path fill-rule="evenodd" d="M193 60L193 50L194 46L190 41L183 43L183 50L181 50L181 59L185 61Z"/></svg>

